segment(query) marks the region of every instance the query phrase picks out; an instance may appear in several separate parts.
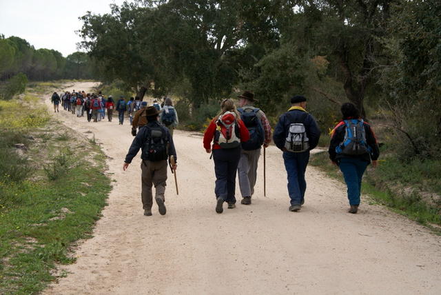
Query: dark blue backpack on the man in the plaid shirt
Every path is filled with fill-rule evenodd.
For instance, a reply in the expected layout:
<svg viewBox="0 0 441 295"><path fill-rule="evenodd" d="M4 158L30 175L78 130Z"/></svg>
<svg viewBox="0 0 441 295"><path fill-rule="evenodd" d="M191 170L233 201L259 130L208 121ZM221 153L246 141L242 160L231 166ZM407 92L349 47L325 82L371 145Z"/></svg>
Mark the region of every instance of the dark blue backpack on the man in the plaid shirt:
<svg viewBox="0 0 441 295"><path fill-rule="evenodd" d="M243 150L257 150L265 141L265 131L258 117L258 108L238 108L240 119L248 129L249 140L242 143Z"/></svg>

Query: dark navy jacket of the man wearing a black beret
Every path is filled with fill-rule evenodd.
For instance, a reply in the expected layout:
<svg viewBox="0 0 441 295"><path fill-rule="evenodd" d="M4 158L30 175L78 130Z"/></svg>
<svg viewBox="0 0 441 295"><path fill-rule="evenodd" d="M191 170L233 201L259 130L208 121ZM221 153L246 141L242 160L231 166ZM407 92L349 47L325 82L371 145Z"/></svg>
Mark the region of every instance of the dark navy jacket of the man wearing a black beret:
<svg viewBox="0 0 441 295"><path fill-rule="evenodd" d="M305 116L306 114L306 116ZM300 122L302 116L305 116L305 120ZM285 141L289 132L289 125L291 123L303 123L305 125L306 134L309 139L309 150L316 148L318 139L320 138L320 129L316 119L311 114L302 110L290 110L282 114L278 119L276 128L274 129L273 140L277 148L283 150L285 148Z"/></svg>

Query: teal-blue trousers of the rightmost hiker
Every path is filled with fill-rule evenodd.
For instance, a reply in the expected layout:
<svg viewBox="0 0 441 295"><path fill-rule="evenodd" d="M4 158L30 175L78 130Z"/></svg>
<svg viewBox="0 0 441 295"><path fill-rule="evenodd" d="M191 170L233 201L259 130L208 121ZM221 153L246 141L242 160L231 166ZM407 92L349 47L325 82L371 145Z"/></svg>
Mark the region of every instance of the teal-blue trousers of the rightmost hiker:
<svg viewBox="0 0 441 295"><path fill-rule="evenodd" d="M357 158L340 159L338 166L345 177L349 205L360 205L361 181L367 165L367 161Z"/></svg>

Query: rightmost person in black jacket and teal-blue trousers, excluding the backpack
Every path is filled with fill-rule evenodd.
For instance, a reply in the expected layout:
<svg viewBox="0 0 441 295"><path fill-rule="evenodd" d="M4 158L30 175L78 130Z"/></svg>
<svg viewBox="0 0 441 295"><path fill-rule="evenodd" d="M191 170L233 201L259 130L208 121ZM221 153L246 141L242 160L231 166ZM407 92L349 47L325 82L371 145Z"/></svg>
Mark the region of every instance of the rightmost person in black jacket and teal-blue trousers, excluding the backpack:
<svg viewBox="0 0 441 295"><path fill-rule="evenodd" d="M358 212L358 205L360 205L363 174L371 161L373 167L376 167L380 150L378 149L377 140L371 126L360 119L360 112L355 105L344 103L341 107L341 112L343 116L342 121L336 125L331 133L331 143L328 150L329 159L340 167L347 185L347 198L350 205L349 213L356 214ZM353 154L352 152L348 154L344 148L342 149L349 121L362 123L365 130L367 150L362 152L362 154Z"/></svg>

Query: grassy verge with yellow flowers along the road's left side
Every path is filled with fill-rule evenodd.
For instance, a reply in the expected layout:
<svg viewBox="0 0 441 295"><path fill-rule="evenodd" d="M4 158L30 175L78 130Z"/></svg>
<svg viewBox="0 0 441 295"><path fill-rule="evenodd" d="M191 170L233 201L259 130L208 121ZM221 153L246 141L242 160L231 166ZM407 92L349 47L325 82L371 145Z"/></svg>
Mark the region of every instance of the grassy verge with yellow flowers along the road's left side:
<svg viewBox="0 0 441 295"><path fill-rule="evenodd" d="M62 276L56 265L75 261L111 188L99 146L41 104L61 84L34 85L0 100L0 294L37 294Z"/></svg>

